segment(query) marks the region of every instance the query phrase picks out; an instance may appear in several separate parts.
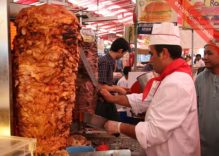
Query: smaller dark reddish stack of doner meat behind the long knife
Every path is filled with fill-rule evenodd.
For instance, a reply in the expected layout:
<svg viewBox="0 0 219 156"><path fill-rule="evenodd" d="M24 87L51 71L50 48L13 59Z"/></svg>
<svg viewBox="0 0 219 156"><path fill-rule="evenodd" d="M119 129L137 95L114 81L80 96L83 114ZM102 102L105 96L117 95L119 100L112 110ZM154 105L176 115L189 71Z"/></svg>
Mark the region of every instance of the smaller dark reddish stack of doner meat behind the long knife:
<svg viewBox="0 0 219 156"><path fill-rule="evenodd" d="M96 42L83 42L81 46L84 49L87 61L91 67L91 70L97 78L98 76L98 54ZM93 86L89 75L83 65L83 62L79 62L78 77L77 77L77 89L76 89L76 107L74 109L74 116L79 112L94 113L97 103L97 90ZM76 119L76 117L74 118Z"/></svg>

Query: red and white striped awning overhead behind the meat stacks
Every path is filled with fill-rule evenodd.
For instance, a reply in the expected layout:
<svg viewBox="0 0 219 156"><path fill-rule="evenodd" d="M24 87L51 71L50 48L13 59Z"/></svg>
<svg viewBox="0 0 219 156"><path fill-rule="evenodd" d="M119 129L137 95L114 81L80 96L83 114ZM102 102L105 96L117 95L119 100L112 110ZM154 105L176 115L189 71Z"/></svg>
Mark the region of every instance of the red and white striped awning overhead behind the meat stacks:
<svg viewBox="0 0 219 156"><path fill-rule="evenodd" d="M46 0L14 0L20 4L39 5ZM64 1L64 0L63 0ZM65 2L65 1L64 1ZM82 14L88 16L84 19L83 27L97 31L98 36L117 34L121 36L124 26L133 23L135 3L132 0L68 0L76 9L84 8Z"/></svg>

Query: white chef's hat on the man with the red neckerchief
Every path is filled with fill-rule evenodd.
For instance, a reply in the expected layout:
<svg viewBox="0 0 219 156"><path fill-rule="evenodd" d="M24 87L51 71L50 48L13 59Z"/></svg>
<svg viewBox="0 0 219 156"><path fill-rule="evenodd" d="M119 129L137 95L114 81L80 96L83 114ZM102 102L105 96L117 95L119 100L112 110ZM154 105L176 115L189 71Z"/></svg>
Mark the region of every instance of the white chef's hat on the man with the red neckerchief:
<svg viewBox="0 0 219 156"><path fill-rule="evenodd" d="M180 46L179 27L168 22L154 24L149 45L156 44Z"/></svg>

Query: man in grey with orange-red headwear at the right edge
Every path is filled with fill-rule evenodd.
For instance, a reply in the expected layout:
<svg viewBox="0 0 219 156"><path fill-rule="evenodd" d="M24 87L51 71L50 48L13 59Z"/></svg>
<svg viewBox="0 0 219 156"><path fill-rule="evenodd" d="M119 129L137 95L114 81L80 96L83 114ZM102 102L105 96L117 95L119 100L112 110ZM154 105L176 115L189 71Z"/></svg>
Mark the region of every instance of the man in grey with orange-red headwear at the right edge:
<svg viewBox="0 0 219 156"><path fill-rule="evenodd" d="M195 81L202 156L219 156L219 47L204 47L206 69Z"/></svg>

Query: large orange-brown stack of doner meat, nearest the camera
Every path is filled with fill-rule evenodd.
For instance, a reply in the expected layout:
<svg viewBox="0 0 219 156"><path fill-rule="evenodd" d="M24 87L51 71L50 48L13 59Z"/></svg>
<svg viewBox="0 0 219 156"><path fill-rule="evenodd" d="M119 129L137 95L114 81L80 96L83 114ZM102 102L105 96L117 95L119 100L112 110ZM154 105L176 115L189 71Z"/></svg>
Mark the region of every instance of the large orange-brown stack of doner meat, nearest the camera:
<svg viewBox="0 0 219 156"><path fill-rule="evenodd" d="M13 75L18 135L37 138L37 153L67 146L81 41L76 16L62 6L22 9L16 18Z"/></svg>

